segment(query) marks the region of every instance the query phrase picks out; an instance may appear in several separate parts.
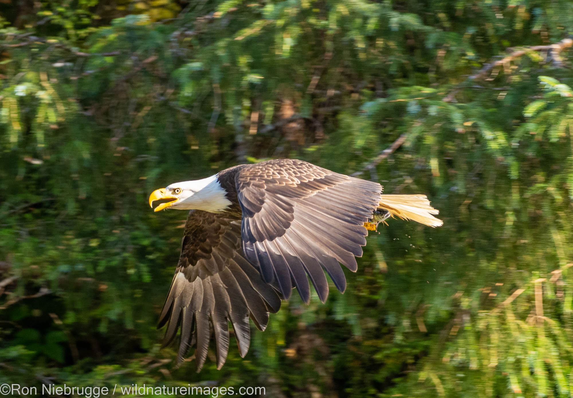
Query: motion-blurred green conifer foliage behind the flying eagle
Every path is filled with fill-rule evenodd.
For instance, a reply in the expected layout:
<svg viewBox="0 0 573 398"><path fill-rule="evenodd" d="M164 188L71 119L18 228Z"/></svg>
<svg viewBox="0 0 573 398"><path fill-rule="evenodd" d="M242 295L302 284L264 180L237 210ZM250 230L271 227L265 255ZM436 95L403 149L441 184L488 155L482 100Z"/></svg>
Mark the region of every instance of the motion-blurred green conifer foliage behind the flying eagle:
<svg viewBox="0 0 573 398"><path fill-rule="evenodd" d="M272 397L573 388L573 3L0 0L0 383ZM384 149L388 150L383 152ZM426 193L348 288L221 371L156 321L186 213L148 194L295 157Z"/></svg>

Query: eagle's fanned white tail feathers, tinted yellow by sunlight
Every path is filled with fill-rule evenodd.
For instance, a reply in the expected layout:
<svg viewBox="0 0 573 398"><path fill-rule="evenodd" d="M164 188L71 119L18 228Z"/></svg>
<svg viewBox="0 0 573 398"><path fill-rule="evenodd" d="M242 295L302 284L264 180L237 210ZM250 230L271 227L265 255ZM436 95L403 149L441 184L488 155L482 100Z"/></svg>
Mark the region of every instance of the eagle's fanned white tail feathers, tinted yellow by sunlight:
<svg viewBox="0 0 573 398"><path fill-rule="evenodd" d="M426 195L381 195L379 209L388 210L391 216L414 220L429 226L441 226L444 221L432 214L439 211L430 205Z"/></svg>

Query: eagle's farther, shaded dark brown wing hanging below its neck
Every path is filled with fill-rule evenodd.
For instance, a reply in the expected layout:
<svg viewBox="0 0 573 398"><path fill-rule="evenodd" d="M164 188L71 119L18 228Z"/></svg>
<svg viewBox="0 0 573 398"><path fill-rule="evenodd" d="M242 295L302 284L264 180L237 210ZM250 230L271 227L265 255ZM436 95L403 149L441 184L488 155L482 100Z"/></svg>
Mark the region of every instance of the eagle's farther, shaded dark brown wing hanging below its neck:
<svg viewBox="0 0 573 398"><path fill-rule="evenodd" d="M250 343L249 317L262 331L269 312L277 312L280 305L277 291L242 254L240 220L191 210L159 319L159 327L167 323L163 345L171 343L180 325L178 361L195 345L199 372L213 332L220 369L229 350L229 321L244 357Z"/></svg>

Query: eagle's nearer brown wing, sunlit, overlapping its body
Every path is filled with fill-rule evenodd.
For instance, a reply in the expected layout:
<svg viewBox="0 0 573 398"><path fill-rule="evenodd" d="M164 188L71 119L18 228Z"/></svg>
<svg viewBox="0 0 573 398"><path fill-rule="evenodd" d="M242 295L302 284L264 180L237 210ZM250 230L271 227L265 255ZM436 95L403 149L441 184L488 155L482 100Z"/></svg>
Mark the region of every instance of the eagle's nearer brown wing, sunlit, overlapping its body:
<svg viewBox="0 0 573 398"><path fill-rule="evenodd" d="M328 296L324 268L341 292L340 263L356 271L382 186L300 160L244 166L236 176L246 258L265 281L277 281L285 299L293 286L308 303L308 277L321 301Z"/></svg>

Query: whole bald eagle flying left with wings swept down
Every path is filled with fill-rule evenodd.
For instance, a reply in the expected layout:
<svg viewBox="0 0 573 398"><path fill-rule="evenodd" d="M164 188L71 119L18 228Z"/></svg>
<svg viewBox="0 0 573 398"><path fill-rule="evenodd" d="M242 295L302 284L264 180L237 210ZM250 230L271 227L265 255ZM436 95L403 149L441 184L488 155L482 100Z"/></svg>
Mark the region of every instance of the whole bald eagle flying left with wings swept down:
<svg viewBox="0 0 573 398"><path fill-rule="evenodd" d="M217 368L229 350L229 322L240 355L249 349L249 318L263 331L269 312L296 288L308 304L312 282L324 303L328 282L340 292L355 272L367 229L397 216L439 226L425 195L382 195L377 182L360 180L308 162L276 159L239 165L197 181L151 193L155 212L191 210L181 254L159 317L167 324L163 346L180 325L178 362L195 346L197 372L211 336Z"/></svg>

